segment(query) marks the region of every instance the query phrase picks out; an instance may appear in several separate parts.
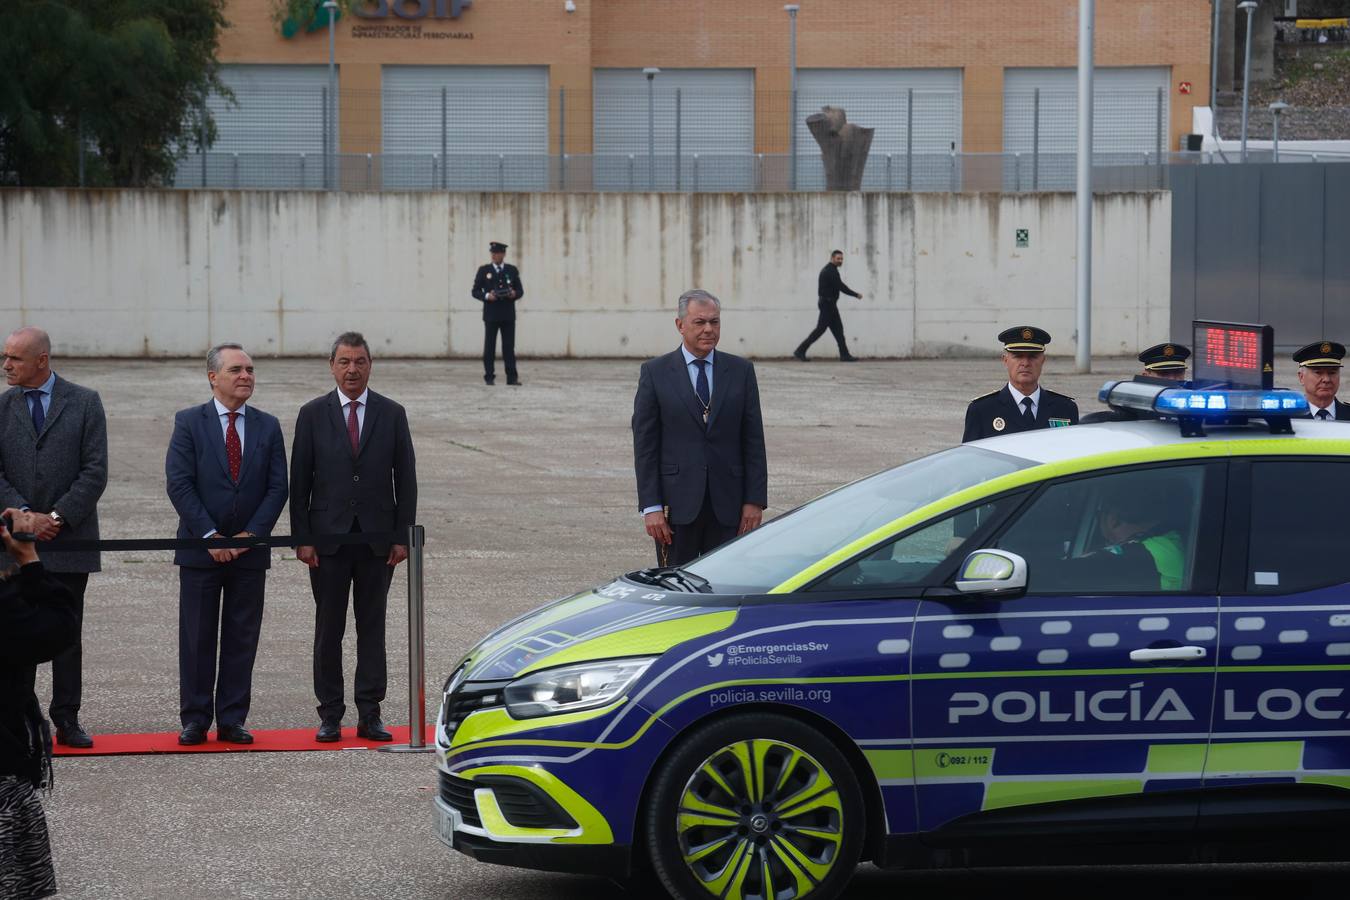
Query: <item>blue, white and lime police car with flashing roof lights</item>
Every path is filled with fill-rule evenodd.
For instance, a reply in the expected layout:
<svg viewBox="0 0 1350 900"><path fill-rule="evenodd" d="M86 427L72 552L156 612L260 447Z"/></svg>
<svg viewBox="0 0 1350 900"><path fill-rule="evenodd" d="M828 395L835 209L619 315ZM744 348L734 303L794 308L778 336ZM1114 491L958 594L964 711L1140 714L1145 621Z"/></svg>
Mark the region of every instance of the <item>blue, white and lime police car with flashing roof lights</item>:
<svg viewBox="0 0 1350 900"><path fill-rule="evenodd" d="M1350 428L1176 385L497 630L444 690L440 838L686 900L833 897L863 860L1350 858Z"/></svg>

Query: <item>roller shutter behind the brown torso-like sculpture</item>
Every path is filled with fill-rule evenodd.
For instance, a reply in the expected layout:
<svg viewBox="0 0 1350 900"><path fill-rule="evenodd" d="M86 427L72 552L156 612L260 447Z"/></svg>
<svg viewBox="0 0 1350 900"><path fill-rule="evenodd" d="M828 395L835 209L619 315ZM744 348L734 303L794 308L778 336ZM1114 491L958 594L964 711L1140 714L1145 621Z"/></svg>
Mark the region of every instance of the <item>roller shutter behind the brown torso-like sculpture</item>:
<svg viewBox="0 0 1350 900"><path fill-rule="evenodd" d="M801 69L796 85L799 190L825 188L821 151L806 127L821 107L842 107L849 121L876 130L863 173L865 190L959 186L952 151L961 152L960 69ZM913 161L905 158L910 150Z"/></svg>

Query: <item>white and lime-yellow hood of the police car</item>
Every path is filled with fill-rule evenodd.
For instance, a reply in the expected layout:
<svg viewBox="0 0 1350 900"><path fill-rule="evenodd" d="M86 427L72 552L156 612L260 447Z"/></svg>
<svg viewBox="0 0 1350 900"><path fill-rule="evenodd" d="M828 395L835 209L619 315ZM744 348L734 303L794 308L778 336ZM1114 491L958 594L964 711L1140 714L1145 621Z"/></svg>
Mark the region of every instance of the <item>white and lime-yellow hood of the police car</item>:
<svg viewBox="0 0 1350 900"><path fill-rule="evenodd" d="M616 580L556 600L483 638L456 677L494 681L568 663L655 656L736 621L736 609L709 606L706 595L699 606L680 606L679 598Z"/></svg>

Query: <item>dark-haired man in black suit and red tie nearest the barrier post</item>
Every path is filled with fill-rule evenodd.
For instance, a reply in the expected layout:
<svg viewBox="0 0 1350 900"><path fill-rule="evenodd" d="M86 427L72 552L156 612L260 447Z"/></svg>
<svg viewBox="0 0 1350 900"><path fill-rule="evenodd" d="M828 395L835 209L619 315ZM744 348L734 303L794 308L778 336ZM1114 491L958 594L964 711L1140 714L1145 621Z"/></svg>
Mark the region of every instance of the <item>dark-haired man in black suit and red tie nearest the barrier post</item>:
<svg viewBox="0 0 1350 900"><path fill-rule="evenodd" d="M367 387L370 345L358 332L333 341L328 355L338 390L300 407L290 447L290 533L406 534L417 521L417 464L404 407ZM356 735L392 741L379 719L387 684L385 609L394 567L408 545L320 544L296 548L309 567L315 592L315 696L319 733L328 743L342 738L342 638L347 596L356 618Z"/></svg>

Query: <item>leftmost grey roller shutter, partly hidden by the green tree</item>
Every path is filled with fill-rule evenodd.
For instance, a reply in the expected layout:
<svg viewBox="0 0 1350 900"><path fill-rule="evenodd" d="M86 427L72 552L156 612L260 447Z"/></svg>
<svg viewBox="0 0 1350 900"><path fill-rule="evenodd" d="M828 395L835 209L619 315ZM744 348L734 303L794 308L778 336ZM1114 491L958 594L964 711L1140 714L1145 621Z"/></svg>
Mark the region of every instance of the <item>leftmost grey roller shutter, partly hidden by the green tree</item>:
<svg viewBox="0 0 1350 900"><path fill-rule="evenodd" d="M321 188L327 66L220 67L235 103L211 96L216 143L178 165L176 184L194 188ZM336 104L333 104L336 105Z"/></svg>

